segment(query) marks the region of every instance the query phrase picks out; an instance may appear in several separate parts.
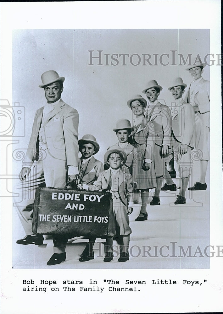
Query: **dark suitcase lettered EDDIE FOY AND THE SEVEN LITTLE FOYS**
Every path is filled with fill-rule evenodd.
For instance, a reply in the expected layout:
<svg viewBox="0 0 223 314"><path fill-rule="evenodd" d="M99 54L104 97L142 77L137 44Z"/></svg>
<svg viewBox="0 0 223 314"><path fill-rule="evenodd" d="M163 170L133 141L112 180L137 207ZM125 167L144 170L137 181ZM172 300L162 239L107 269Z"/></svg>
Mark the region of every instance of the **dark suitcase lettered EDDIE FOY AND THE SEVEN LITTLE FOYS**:
<svg viewBox="0 0 223 314"><path fill-rule="evenodd" d="M34 234L115 235L113 201L109 192L38 187L33 210Z"/></svg>

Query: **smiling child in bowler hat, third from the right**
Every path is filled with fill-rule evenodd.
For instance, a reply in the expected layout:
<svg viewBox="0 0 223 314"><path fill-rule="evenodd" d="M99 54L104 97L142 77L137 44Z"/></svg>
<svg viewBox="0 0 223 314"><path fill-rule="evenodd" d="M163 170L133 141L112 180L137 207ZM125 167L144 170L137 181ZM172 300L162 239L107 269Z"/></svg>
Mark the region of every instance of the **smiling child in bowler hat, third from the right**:
<svg viewBox="0 0 223 314"><path fill-rule="evenodd" d="M166 163L170 161L170 143L171 143L171 113L168 106L163 105L157 99L162 86L157 81L148 82L148 87L142 92L148 98L148 104L145 108L144 115L151 122L155 135L154 148L154 167L156 173L157 187L150 205L160 205L159 193L162 187L163 177L165 174Z"/></svg>

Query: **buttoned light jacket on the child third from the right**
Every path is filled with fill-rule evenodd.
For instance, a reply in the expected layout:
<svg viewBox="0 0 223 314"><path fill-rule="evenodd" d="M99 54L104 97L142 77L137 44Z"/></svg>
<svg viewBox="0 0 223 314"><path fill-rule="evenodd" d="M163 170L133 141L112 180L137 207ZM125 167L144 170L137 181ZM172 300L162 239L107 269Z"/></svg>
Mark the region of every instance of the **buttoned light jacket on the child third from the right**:
<svg viewBox="0 0 223 314"><path fill-rule="evenodd" d="M147 118L152 124L154 130L155 143L159 146L171 143L171 112L168 106L159 101L154 110L148 109Z"/></svg>

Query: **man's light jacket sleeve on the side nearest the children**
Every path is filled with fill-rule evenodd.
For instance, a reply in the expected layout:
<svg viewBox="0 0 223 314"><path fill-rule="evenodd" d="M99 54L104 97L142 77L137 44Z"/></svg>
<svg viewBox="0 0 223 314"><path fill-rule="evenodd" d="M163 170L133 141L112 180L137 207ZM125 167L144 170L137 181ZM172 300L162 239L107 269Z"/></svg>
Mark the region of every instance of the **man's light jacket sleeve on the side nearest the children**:
<svg viewBox="0 0 223 314"><path fill-rule="evenodd" d="M68 111L66 116L64 116L63 124L64 142L68 166L78 167L78 124L78 112L70 107L70 110Z"/></svg>

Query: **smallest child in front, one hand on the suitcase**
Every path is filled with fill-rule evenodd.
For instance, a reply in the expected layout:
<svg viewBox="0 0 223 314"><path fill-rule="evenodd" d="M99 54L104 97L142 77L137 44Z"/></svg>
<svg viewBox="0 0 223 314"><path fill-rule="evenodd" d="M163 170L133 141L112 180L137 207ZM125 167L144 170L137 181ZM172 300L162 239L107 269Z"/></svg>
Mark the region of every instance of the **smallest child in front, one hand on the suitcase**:
<svg viewBox="0 0 223 314"><path fill-rule="evenodd" d="M129 241L132 233L129 226L129 214L133 210L133 182L130 173L122 171L121 165L126 162L126 154L122 149L108 150L104 162L109 167L98 175L97 181L85 185L89 191L109 191L113 199L113 211L116 222L116 236L122 237L118 262L129 260ZM113 236L106 238L104 262L113 260Z"/></svg>

